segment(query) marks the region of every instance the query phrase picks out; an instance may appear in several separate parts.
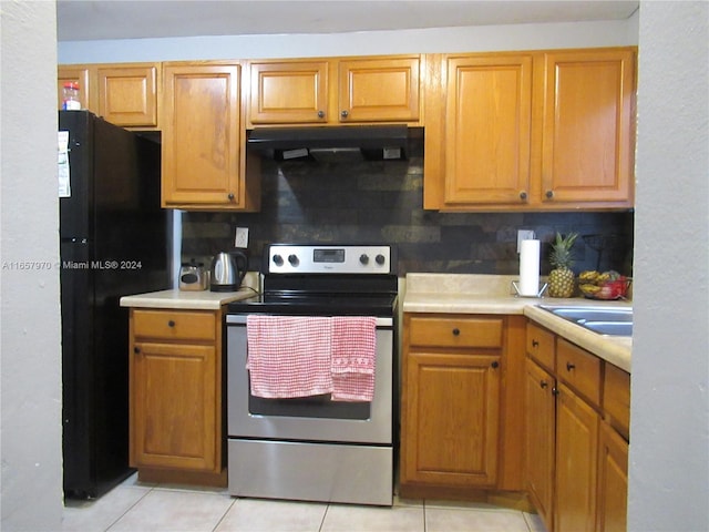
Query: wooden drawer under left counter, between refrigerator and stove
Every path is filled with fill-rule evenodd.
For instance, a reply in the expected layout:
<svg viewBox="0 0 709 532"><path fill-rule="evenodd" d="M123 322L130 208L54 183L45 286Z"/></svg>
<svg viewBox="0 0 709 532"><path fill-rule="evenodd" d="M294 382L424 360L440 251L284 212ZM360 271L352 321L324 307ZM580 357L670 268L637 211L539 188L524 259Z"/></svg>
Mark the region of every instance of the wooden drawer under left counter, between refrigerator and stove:
<svg viewBox="0 0 709 532"><path fill-rule="evenodd" d="M216 316L210 311L134 310L133 335L171 340L216 340Z"/></svg>

